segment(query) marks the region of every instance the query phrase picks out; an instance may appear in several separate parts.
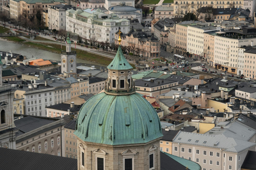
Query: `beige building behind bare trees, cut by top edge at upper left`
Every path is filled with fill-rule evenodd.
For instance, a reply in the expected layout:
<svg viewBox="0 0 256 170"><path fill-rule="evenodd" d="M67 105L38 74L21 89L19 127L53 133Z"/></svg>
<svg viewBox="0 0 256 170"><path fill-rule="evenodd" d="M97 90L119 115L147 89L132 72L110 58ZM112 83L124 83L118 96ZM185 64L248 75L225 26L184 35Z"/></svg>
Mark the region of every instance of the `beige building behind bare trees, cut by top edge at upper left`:
<svg viewBox="0 0 256 170"><path fill-rule="evenodd" d="M57 4L66 4L65 1L63 0L54 0L54 1L27 1L23 0L20 1L20 14L26 13L28 15L28 18L30 16L35 17L36 12L43 11L43 10L48 10L48 7L51 5L57 5Z"/></svg>

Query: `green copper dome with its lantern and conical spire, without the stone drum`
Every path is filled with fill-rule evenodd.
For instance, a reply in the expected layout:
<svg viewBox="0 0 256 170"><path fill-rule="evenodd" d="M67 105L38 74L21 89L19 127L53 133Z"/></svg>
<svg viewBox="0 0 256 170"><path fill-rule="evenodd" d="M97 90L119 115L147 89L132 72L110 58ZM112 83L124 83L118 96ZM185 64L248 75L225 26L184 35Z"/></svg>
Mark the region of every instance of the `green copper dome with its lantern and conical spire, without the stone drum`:
<svg viewBox="0 0 256 170"><path fill-rule="evenodd" d="M119 31L119 38L121 32ZM154 107L135 92L131 70L121 46L108 66L105 92L82 106L75 134L86 142L106 145L147 143L161 138L162 128Z"/></svg>

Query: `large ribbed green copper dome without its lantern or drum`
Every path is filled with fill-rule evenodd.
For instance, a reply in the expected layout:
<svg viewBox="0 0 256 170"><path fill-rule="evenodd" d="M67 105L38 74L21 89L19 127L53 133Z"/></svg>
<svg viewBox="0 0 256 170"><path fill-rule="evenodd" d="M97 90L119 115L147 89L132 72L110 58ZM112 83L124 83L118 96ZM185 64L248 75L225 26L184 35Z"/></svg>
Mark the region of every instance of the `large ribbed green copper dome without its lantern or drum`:
<svg viewBox="0 0 256 170"><path fill-rule="evenodd" d="M83 105L75 134L87 142L106 145L146 143L163 136L158 115L140 94L102 92Z"/></svg>

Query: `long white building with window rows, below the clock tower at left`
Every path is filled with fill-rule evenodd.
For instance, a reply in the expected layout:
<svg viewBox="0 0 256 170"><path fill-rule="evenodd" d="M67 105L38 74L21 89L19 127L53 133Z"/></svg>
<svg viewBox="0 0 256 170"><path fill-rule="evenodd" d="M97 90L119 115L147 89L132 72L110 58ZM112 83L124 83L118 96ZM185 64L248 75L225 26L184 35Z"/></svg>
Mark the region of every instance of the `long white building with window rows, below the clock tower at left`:
<svg viewBox="0 0 256 170"><path fill-rule="evenodd" d="M46 106L70 99L70 84L60 78L51 78L49 84L34 82L15 91L15 98L24 98L25 115L46 116Z"/></svg>

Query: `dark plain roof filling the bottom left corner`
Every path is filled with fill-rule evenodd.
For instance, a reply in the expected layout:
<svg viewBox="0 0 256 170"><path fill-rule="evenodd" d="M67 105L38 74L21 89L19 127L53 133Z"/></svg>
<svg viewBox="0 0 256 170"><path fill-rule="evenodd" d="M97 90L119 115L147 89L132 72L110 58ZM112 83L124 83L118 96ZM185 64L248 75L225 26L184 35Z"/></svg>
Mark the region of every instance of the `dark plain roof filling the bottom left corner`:
<svg viewBox="0 0 256 170"><path fill-rule="evenodd" d="M1 169L12 170L77 170L77 159L0 148Z"/></svg>

